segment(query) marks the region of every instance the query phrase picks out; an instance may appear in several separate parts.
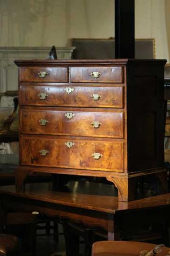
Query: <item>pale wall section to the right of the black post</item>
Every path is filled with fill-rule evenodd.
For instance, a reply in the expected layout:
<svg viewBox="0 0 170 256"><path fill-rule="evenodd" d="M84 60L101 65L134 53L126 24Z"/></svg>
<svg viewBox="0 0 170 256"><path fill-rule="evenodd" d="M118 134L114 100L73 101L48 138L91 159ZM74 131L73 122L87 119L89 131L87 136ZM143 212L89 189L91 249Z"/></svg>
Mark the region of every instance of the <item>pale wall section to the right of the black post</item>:
<svg viewBox="0 0 170 256"><path fill-rule="evenodd" d="M170 62L167 15L170 10L166 10L165 0L135 0L135 37L154 38L156 59Z"/></svg>

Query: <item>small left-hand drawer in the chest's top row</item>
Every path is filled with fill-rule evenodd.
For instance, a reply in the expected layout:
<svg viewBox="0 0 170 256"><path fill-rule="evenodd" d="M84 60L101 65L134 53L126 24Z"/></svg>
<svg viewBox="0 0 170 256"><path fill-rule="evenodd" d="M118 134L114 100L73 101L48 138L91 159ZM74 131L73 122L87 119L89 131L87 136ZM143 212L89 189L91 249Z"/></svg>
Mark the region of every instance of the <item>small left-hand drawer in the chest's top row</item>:
<svg viewBox="0 0 170 256"><path fill-rule="evenodd" d="M67 68L28 67L19 69L20 82L67 82Z"/></svg>

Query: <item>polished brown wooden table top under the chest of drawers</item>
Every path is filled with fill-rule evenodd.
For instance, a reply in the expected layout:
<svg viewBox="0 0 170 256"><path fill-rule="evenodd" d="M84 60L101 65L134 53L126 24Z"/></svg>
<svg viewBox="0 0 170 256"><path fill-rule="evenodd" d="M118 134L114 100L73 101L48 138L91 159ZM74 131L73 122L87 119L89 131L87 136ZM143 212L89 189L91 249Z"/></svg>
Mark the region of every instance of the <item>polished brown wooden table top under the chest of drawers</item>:
<svg viewBox="0 0 170 256"><path fill-rule="evenodd" d="M129 210L139 210L143 208L168 207L170 206L170 193L143 198L131 202L120 202L118 197L89 195L83 193L70 193L49 190L27 190L25 192L16 192L15 186L0 187L0 195L33 199L42 202L84 208L104 213L117 213Z"/></svg>

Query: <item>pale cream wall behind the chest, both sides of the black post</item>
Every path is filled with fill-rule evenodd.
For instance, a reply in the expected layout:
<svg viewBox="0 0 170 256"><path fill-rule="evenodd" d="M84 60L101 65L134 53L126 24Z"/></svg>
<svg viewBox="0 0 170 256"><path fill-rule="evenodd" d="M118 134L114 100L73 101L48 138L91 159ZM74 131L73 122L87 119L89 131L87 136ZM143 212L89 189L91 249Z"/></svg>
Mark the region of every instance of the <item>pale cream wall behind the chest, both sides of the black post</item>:
<svg viewBox="0 0 170 256"><path fill-rule="evenodd" d="M168 61L169 2L135 0L135 37L155 38L156 58ZM69 38L109 37L114 0L0 0L0 46L60 47Z"/></svg>

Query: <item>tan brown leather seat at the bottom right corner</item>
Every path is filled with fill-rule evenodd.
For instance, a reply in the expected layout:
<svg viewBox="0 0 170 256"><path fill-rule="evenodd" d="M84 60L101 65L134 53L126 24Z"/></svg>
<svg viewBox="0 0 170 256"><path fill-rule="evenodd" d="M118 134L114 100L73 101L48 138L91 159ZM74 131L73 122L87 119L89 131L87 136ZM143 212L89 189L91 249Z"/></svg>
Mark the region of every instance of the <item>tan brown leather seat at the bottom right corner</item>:
<svg viewBox="0 0 170 256"><path fill-rule="evenodd" d="M156 245L132 242L132 241L101 241L92 246L92 256L140 256L144 250L151 251ZM170 251L168 247L162 247L159 256L165 256Z"/></svg>

